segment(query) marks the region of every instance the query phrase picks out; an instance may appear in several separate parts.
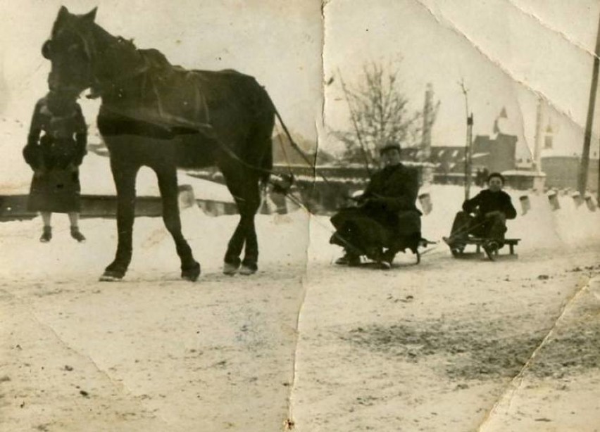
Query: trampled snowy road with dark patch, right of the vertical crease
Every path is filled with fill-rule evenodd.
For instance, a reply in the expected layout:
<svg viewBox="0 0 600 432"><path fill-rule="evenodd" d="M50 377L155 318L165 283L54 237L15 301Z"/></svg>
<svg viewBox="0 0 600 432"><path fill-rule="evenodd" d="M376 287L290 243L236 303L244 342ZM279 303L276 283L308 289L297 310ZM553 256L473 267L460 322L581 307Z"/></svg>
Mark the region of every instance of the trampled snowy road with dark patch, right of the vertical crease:
<svg viewBox="0 0 600 432"><path fill-rule="evenodd" d="M510 263L447 254L384 273L313 269L296 430L596 431L600 301L580 290L599 258L590 246L567 260L546 250Z"/></svg>

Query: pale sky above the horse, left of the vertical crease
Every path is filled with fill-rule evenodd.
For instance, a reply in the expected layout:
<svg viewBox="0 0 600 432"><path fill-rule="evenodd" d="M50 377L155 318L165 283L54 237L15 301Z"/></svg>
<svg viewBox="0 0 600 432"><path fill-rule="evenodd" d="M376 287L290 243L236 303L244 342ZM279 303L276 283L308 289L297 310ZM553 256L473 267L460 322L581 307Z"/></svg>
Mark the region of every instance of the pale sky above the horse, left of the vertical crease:
<svg viewBox="0 0 600 432"><path fill-rule="evenodd" d="M0 114L25 117L46 91L49 62L42 43L58 8L87 13L111 34L139 48L161 50L185 68L237 69L269 91L289 126L315 139L323 105L323 20L320 1L296 0L0 0L2 71ZM8 13L7 13L8 12ZM83 101L93 116L97 106ZM91 107L91 108L90 108ZM90 116L88 116L90 117Z"/></svg>

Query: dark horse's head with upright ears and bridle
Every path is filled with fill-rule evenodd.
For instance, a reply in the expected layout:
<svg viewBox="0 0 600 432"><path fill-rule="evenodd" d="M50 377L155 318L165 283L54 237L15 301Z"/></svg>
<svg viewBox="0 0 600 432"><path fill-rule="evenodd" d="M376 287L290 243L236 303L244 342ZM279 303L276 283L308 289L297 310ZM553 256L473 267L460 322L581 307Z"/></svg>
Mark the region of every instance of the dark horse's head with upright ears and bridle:
<svg viewBox="0 0 600 432"><path fill-rule="evenodd" d="M85 15L73 15L64 6L58 11L51 39L42 46L42 55L52 63L52 91L80 94L94 84L94 18L96 8Z"/></svg>

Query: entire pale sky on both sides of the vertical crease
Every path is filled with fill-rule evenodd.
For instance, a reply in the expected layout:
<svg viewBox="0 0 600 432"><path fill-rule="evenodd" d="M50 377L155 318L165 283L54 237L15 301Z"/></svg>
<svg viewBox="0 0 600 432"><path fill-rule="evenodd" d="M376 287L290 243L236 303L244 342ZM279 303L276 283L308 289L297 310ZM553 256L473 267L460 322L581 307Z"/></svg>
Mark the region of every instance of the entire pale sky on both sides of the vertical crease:
<svg viewBox="0 0 600 432"><path fill-rule="evenodd" d="M413 108L422 108L425 85L433 84L442 102L434 144L464 143L462 78L475 134L491 134L506 107L507 132L519 136L519 153L527 154L541 94L549 103L544 122L558 131L558 152L580 153L582 146L600 11L595 0L332 0L323 8L325 35L320 1L312 0L0 0L0 116L9 123L26 127L46 91L49 63L39 49L61 4L73 13L99 6L99 25L140 48L160 49L172 63L254 75L288 126L308 139L321 122L322 72L328 80L341 70L352 84L363 63L374 60L399 64ZM339 80L325 87L325 97L321 132L350 127ZM97 101L82 104L87 121L95 122ZM600 110L595 118L600 130ZM4 154L20 158L25 134L0 143ZM320 144L339 148L327 134ZM597 152L597 140L592 148Z"/></svg>

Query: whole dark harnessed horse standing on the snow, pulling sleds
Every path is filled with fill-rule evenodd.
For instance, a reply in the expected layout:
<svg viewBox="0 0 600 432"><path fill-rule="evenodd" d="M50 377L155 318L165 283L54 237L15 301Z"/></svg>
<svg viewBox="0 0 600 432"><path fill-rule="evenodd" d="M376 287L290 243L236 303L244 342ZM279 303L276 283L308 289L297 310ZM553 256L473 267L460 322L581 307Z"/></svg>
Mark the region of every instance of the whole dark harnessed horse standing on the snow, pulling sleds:
<svg viewBox="0 0 600 432"><path fill-rule="evenodd" d="M73 15L63 6L42 47L53 91L101 97L99 131L110 151L117 189L118 246L101 280L121 279L132 257L135 178L142 165L156 172L163 220L175 240L181 275L196 280L200 265L181 232L176 167L217 166L239 209L223 272L256 272L254 215L260 184L273 165L275 108L254 77L170 65L156 49L137 49L94 23L96 8ZM244 248L244 260L240 259ZM241 268L240 268L241 266Z"/></svg>

